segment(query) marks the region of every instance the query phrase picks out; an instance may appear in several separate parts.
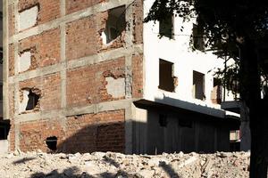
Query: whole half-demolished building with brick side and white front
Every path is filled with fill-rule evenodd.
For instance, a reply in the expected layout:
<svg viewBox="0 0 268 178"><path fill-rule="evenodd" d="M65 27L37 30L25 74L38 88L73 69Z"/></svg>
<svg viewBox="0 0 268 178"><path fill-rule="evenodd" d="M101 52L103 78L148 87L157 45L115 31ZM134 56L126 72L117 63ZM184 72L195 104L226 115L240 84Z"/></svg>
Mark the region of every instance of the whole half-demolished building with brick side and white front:
<svg viewBox="0 0 268 178"><path fill-rule="evenodd" d="M151 4L4 0L9 150L229 150L215 56L190 52L174 17L143 24Z"/></svg>

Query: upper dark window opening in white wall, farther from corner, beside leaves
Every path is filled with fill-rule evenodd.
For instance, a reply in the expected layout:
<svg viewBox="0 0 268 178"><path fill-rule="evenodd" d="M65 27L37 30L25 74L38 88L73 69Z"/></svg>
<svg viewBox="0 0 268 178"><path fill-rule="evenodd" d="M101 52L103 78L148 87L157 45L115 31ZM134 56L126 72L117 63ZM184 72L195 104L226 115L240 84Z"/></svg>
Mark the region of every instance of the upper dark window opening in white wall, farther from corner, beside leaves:
<svg viewBox="0 0 268 178"><path fill-rule="evenodd" d="M193 45L194 48L200 51L205 50L204 29L197 24L193 24Z"/></svg>

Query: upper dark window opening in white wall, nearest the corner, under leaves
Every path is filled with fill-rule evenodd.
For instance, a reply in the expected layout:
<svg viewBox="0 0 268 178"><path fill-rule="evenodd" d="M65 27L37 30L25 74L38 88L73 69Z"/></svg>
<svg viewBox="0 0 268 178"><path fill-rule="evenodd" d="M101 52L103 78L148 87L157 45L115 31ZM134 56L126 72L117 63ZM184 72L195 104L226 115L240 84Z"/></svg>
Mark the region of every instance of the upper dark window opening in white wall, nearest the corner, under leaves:
<svg viewBox="0 0 268 178"><path fill-rule="evenodd" d="M163 20L159 21L159 35L169 38L173 37L173 15L166 15Z"/></svg>

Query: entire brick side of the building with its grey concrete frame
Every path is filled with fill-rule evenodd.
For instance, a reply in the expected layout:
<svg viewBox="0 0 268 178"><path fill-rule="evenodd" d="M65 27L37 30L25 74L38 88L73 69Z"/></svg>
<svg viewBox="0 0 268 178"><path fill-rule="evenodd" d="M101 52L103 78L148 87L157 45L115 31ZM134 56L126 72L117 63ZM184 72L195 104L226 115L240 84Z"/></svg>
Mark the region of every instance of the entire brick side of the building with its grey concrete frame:
<svg viewBox="0 0 268 178"><path fill-rule="evenodd" d="M50 151L55 136L57 151L125 152L130 106L143 96L143 1L15 2L6 6L9 149ZM126 28L105 44L108 12L122 6ZM24 12L34 23L20 29Z"/></svg>

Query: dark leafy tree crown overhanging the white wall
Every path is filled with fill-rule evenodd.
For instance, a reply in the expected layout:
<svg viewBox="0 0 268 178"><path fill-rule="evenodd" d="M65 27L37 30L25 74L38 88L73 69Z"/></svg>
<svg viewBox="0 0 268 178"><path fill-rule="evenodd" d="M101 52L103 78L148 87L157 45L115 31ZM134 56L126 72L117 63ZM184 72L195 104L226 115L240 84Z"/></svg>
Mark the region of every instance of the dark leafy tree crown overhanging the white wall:
<svg viewBox="0 0 268 178"><path fill-rule="evenodd" d="M180 16L185 21L197 18L197 26L203 32L203 36L199 37L205 37L206 50L235 61L236 65L216 73L219 77L223 76L223 83L229 88L233 88L231 85L238 83L241 77L239 66L243 61L240 46L250 41L256 47L252 50L257 51L262 44L267 45L268 1L155 0L144 21L162 20L167 13ZM195 49L193 37L190 45ZM260 75L268 78L263 59L259 60Z"/></svg>

